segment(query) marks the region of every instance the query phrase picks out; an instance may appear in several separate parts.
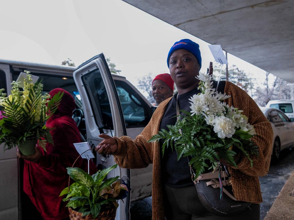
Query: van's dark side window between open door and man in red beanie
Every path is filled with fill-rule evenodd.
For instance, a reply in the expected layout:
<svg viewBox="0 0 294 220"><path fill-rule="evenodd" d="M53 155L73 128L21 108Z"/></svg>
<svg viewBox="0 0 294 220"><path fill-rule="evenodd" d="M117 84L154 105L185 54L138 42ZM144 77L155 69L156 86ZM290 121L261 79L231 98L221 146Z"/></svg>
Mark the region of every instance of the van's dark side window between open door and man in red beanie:
<svg viewBox="0 0 294 220"><path fill-rule="evenodd" d="M123 81L114 81L126 128L145 127L149 122L148 107L144 100Z"/></svg>

